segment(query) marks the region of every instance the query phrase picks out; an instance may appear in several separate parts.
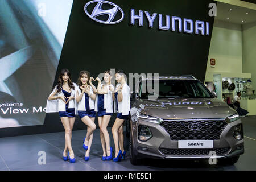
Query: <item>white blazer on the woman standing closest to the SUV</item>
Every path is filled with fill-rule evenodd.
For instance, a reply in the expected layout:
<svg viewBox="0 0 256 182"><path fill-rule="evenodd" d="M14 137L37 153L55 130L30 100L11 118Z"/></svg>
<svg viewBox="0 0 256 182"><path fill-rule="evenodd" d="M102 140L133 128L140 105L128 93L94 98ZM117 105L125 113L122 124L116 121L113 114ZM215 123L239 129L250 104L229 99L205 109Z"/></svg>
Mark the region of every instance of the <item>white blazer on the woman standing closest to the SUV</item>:
<svg viewBox="0 0 256 182"><path fill-rule="evenodd" d="M117 89L119 85L121 84L117 84L117 86L115 86L115 89ZM126 83L123 85L122 95L122 102L118 102L117 100L118 113L122 113L122 115L128 115L130 111L130 87ZM116 101L114 103L114 111L115 113L117 113Z"/></svg>

